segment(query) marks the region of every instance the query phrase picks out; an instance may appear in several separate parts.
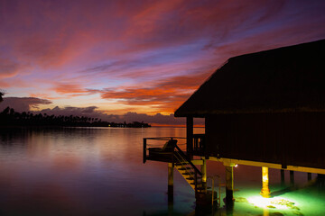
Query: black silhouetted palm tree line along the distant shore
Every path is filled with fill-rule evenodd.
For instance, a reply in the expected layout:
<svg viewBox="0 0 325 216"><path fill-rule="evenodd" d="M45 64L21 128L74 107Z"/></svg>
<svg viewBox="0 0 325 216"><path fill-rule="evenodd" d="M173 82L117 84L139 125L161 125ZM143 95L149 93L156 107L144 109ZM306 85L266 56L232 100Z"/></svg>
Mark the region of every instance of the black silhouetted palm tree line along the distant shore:
<svg viewBox="0 0 325 216"><path fill-rule="evenodd" d="M123 128L147 128L150 124L134 121L132 123L116 123L102 121L98 118L85 116L65 116L33 114L32 112L15 112L13 108L7 107L0 112L1 126L64 126L64 127L123 127Z"/></svg>

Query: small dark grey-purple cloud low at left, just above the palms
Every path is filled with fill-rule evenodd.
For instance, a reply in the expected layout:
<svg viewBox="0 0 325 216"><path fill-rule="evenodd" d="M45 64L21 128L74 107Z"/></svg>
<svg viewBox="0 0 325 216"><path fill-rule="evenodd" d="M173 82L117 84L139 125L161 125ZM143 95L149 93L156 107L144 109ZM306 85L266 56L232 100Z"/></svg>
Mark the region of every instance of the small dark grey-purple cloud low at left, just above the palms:
<svg viewBox="0 0 325 216"><path fill-rule="evenodd" d="M40 104L51 104L51 101L37 97L4 97L4 101L0 103L0 111L10 106L16 112L27 112L31 108L39 108Z"/></svg>

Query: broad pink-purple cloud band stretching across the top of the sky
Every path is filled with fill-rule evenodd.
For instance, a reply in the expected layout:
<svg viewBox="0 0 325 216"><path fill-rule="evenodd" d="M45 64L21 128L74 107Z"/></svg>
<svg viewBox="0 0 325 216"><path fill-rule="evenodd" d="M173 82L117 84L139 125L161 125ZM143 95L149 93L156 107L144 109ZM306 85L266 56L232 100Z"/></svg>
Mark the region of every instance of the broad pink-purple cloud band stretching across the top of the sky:
<svg viewBox="0 0 325 216"><path fill-rule="evenodd" d="M178 48L200 40L202 47L209 42L228 43L248 34L274 31L281 24L299 28L298 22L310 20L302 17L320 13L324 6L320 4L315 8L315 5L284 1L246 4L226 0L218 3L137 1L136 4L134 1L97 1L89 5L88 1L44 4L33 0L3 4L1 30L5 48L14 51L21 60L41 67L61 67L107 58L118 61L125 55L129 58L132 54ZM311 10L304 11L306 6ZM298 13L301 14L296 15ZM292 14L289 18L295 25L287 23L286 14Z"/></svg>

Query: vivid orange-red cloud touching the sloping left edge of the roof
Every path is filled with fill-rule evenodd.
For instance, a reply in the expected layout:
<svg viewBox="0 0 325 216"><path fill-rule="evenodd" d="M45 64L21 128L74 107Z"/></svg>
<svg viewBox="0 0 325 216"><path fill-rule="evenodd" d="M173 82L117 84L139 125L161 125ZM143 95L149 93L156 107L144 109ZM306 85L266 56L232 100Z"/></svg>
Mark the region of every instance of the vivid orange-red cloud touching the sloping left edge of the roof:
<svg viewBox="0 0 325 216"><path fill-rule="evenodd" d="M209 74L210 72L195 76L173 76L155 83L147 83L152 86L145 87L146 84L143 84L141 87L104 89L100 92L102 98L116 99L118 103L148 105L156 112L174 112Z"/></svg>

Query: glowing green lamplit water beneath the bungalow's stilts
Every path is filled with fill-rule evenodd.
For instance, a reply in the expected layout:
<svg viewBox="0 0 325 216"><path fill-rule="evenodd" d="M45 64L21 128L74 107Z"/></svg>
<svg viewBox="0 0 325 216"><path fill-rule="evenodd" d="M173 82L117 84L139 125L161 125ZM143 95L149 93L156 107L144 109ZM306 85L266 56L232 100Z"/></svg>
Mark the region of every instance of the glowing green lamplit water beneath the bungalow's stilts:
<svg viewBox="0 0 325 216"><path fill-rule="evenodd" d="M235 203L233 210L227 211L224 202L221 210L213 215L325 215L325 187L324 180L317 180L317 175L312 175L308 182L307 174L295 172L295 182L290 186L288 179L280 183L280 171L270 169L270 190L272 197L263 198L259 195L261 184L258 181L259 167L240 166L247 172L246 179L239 173L236 181L235 170ZM285 173L289 175L289 172ZM225 197L224 191L221 197Z"/></svg>

